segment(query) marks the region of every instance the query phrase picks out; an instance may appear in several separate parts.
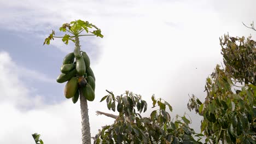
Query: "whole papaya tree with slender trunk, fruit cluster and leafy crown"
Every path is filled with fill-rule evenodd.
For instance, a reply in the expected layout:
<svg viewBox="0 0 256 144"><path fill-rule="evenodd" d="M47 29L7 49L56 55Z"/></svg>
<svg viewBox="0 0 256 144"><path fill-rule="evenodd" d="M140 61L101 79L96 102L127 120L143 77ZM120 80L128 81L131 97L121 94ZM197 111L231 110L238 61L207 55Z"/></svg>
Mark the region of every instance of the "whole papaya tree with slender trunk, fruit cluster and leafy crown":
<svg viewBox="0 0 256 144"><path fill-rule="evenodd" d="M82 141L83 144L91 143L90 123L88 116L88 101L95 98L95 76L90 67L90 58L85 51L81 50L79 38L83 36L96 35L103 38L101 29L88 21L76 20L64 23L59 30L64 32L63 36L55 36L55 31L45 39L44 44L49 45L54 38L62 38L66 45L69 41L75 44L74 50L68 53L63 59L61 74L57 77L57 82L67 82L64 95L67 99L72 99L77 103L80 96L80 108L82 116ZM85 34L82 34L84 32Z"/></svg>

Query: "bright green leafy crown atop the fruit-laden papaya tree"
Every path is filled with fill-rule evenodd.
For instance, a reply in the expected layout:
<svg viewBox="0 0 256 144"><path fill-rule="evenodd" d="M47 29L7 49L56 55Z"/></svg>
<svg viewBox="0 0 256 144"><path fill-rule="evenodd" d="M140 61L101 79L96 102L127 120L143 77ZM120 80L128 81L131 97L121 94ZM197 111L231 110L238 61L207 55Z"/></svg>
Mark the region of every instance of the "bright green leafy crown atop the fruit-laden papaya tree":
<svg viewBox="0 0 256 144"><path fill-rule="evenodd" d="M71 33L72 35L66 33L62 37L56 37L55 31L53 30L49 37L44 40L44 44L49 45L50 40L54 40L54 38L62 38L63 43L66 45L68 44L69 40L75 42L75 37L80 36L96 35L97 37L103 38L101 29L97 28L95 25L92 25L92 23L89 23L88 21L76 20L70 23L64 23L62 27L59 28L59 30L61 32ZM83 31L85 31L87 34L81 34Z"/></svg>

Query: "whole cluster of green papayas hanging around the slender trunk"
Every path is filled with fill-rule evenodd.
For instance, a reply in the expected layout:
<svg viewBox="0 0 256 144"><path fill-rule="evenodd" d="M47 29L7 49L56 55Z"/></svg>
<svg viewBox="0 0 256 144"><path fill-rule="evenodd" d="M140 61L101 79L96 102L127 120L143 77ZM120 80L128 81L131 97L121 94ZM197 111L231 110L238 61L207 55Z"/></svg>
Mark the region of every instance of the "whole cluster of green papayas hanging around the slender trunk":
<svg viewBox="0 0 256 144"><path fill-rule="evenodd" d="M86 52L74 50L63 59L61 74L57 82L66 82L64 95L67 99L72 98L77 103L80 93L86 100L93 101L95 98L95 76L90 68L90 58Z"/></svg>

